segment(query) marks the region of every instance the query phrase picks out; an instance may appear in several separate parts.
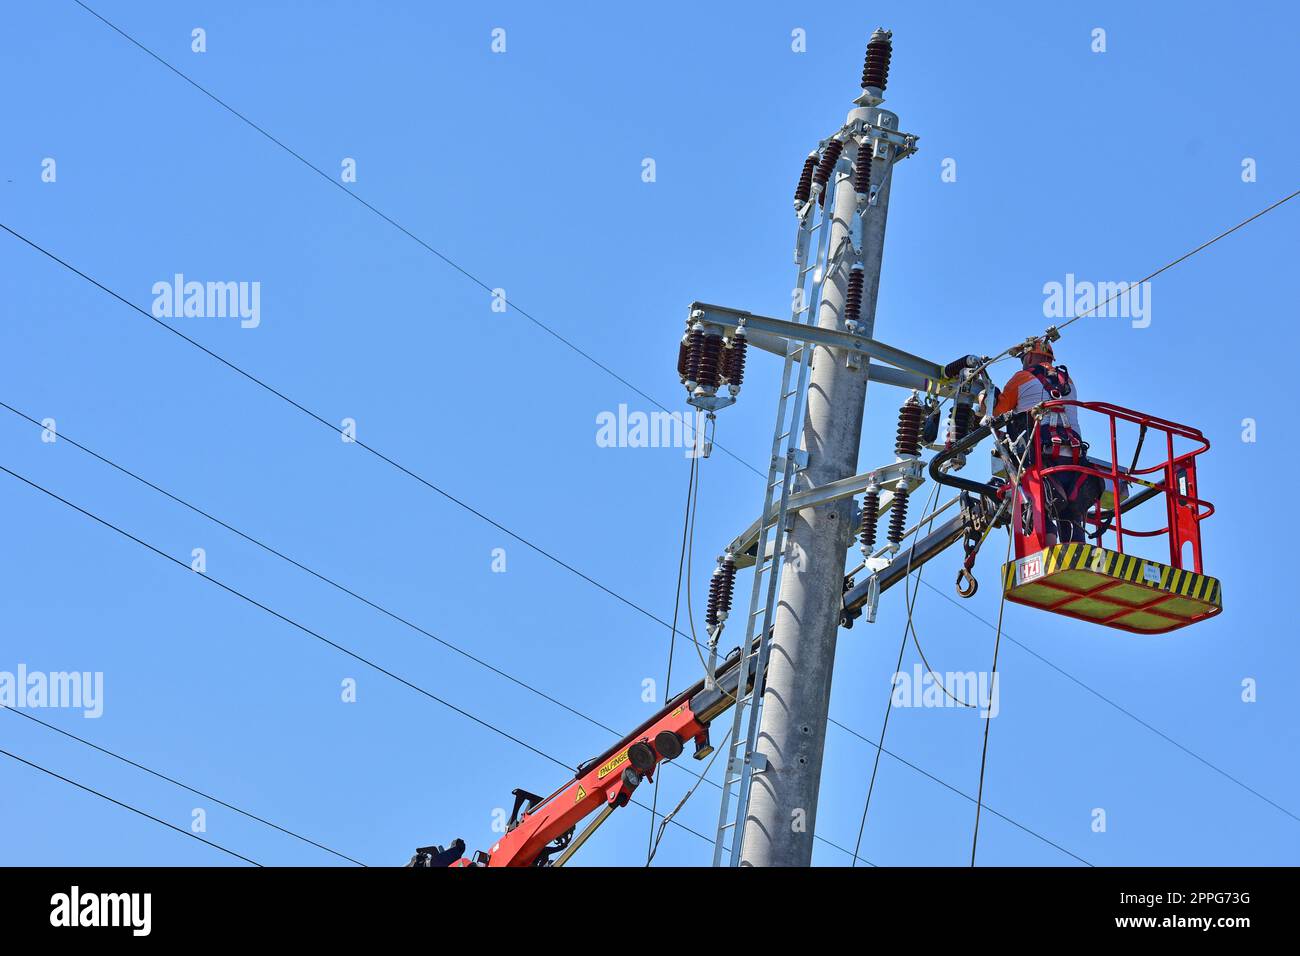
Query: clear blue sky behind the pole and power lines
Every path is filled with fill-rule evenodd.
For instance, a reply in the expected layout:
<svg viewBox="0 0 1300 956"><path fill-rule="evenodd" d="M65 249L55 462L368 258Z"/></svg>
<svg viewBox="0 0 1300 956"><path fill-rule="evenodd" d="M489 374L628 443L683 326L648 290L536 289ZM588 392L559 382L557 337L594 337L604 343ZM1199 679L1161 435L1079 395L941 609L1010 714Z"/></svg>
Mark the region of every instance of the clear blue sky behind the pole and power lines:
<svg viewBox="0 0 1300 956"><path fill-rule="evenodd" d="M781 313L789 195L802 157L857 94L872 27L894 30L889 105L920 135L896 169L878 336L946 360L1040 330L1043 285L1136 278L1296 187L1290 121L1300 20L1280 3L92 5L350 190L592 355L680 407L676 338L692 299ZM131 302L183 272L263 285L261 326L188 319L208 347L320 411L604 585L672 611L688 463L602 449L595 416L647 403L342 195L74 3L6 4L0 39L3 221ZM208 52L190 51L202 26ZM507 53L490 52L504 27ZM790 31L807 31L807 52ZM1108 51L1089 49L1104 27ZM57 182L40 181L57 160ZM658 181L641 179L653 157ZM940 179L956 159L958 179ZM1242 181L1253 157L1258 181ZM1296 864L1294 269L1287 206L1156 280L1153 321L1087 319L1061 343L1087 397L1205 429L1208 571L1222 617L1170 637L1009 606L988 805L1095 862ZM667 628L344 445L318 424L0 235L0 399L136 470L445 640L615 727L651 710ZM1277 360L1280 359L1280 360ZM776 363L755 355L718 440L760 463ZM1002 365L1000 368L1006 368ZM862 460L888 460L901 394L872 388ZM3 410L0 410L3 412ZM1242 420L1258 441L1242 441ZM3 463L529 744L577 762L608 735L385 619L246 541L0 414ZM705 467L694 585L750 522L760 479ZM1280 498L1280 503L1279 503ZM510 791L564 774L451 710L0 475L0 669L105 675L99 721L38 711L368 864L464 836L493 842ZM491 572L504 548L508 571ZM966 609L997 613L994 567ZM927 570L916 623L939 670L985 670L993 631ZM738 593L748 593L745 579ZM744 605L744 598L738 602ZM697 614L699 613L697 604ZM841 632L832 715L875 739L902 627ZM736 636L732 635L734 639ZM1027 653L1032 649L1054 670ZM679 641L673 682L698 675ZM907 667L915 661L909 649ZM359 701L339 701L356 678ZM1242 682L1258 683L1244 704ZM974 793L982 723L894 713L888 745ZM0 747L264 864L334 857L0 714ZM818 832L853 845L874 750L828 735ZM718 775L720 765L714 767ZM685 790L663 777L662 804ZM647 796L642 791L642 796ZM711 832L718 791L681 819ZM233 862L0 760L0 861ZM1108 830L1091 829L1104 808ZM974 805L890 758L862 844L883 865L965 864ZM628 809L586 864L644 861ZM681 830L659 861L706 864ZM985 816L985 864L1075 865ZM848 856L819 843L815 862Z"/></svg>

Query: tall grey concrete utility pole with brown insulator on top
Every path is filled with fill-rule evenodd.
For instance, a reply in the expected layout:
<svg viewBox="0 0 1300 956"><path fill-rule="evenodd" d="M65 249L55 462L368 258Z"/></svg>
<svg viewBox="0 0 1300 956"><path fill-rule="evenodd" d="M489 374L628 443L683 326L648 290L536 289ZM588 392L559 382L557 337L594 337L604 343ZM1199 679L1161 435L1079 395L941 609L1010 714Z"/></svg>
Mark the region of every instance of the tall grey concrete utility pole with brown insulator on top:
<svg viewBox="0 0 1300 956"><path fill-rule="evenodd" d="M867 46L863 94L855 100L861 105L849 113L850 126L898 130L898 117L876 107L883 99L889 56L890 34L876 30ZM859 202L852 170L858 150L872 150L874 143L871 182L879 189L870 202ZM822 328L844 328L849 274L861 261L863 298L857 330L866 337L874 333L893 159L894 148L883 140L845 137L833 179L829 272L818 312ZM845 351L820 346L812 363L803 423L809 454L805 477L812 485L824 485L857 472L868 363L864 356L850 358ZM767 757L767 766L753 777L742 866L807 866L812 858L852 520L852 498L792 515L757 748Z"/></svg>

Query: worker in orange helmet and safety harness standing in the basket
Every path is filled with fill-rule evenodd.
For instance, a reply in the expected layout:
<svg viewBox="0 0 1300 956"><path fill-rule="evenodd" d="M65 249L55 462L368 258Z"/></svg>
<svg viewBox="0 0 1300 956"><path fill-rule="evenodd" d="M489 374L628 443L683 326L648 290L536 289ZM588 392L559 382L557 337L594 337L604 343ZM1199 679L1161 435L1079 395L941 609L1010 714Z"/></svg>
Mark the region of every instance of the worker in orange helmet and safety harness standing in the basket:
<svg viewBox="0 0 1300 956"><path fill-rule="evenodd" d="M1032 428L1030 412L1036 406L1057 399L1079 401L1069 369L1054 362L1052 342L1046 338L1032 339L1020 352L1020 371L1006 382L993 406L994 416L1009 411L1017 412L1008 428L1013 442L1019 442ZM1063 408L1044 411L1039 437L1045 468L1058 464L1087 464L1088 444L1079 431L1079 410L1075 406L1067 405ZM1058 471L1045 475L1043 483L1048 514L1054 519L1054 527L1046 529L1048 544L1056 544L1057 540L1083 542L1083 519L1088 509L1101 497L1100 479L1076 471Z"/></svg>

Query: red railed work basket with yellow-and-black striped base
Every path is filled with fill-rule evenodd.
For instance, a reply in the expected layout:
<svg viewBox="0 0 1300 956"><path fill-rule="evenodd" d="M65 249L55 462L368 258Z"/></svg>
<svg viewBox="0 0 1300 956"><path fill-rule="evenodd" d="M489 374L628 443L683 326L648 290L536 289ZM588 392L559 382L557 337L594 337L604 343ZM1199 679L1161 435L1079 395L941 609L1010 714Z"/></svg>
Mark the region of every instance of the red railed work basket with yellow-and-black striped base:
<svg viewBox="0 0 1300 956"><path fill-rule="evenodd" d="M1002 589L1008 601L1030 605L1054 614L1091 620L1134 633L1164 633L1222 610L1219 581L1202 574L1200 523L1214 514L1214 506L1197 497L1196 457L1209 449L1199 429L1122 408L1106 402L1056 401L1044 410L1075 406L1104 416L1109 423L1110 462L1091 454L1078 462L1044 459L1036 418L1028 437L1030 459L1020 483L1010 493L1011 533L1015 561L1002 566ZM1132 466L1119 462L1117 423L1136 425L1138 446ZM1164 445L1161 460L1145 467L1138 458L1148 437ZM1190 450L1176 451L1175 440L1191 442ZM1097 449L1093 442L1088 449ZM1053 475L1078 473L1076 481L1093 476L1102 494L1084 516L1088 537L1096 544L1052 542L1048 483ZM1124 514L1143 502L1164 496L1165 525L1153 531L1124 527ZM1105 535L1114 532L1114 549L1104 548ZM1169 540L1169 563L1128 554L1126 538Z"/></svg>

